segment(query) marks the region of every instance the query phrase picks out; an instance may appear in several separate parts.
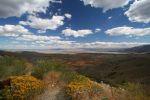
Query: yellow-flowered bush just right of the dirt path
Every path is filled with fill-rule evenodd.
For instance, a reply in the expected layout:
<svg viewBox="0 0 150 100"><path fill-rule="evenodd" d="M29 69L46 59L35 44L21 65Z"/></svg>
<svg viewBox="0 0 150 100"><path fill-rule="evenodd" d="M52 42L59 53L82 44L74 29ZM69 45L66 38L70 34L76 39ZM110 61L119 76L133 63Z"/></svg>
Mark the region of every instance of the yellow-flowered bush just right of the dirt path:
<svg viewBox="0 0 150 100"><path fill-rule="evenodd" d="M72 74L73 79L65 86L65 93L72 100L96 100L100 98L102 88L99 84L91 81L87 77ZM99 100L99 99L98 99Z"/></svg>

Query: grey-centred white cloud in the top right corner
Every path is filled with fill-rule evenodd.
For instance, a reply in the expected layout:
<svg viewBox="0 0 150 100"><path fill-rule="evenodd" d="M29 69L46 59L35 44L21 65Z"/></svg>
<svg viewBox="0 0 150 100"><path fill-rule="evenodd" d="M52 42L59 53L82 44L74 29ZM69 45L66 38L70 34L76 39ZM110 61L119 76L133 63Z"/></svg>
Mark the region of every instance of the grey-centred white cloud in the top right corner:
<svg viewBox="0 0 150 100"><path fill-rule="evenodd" d="M129 10L125 12L133 22L150 22L150 0L135 0Z"/></svg>

